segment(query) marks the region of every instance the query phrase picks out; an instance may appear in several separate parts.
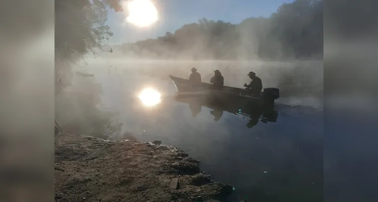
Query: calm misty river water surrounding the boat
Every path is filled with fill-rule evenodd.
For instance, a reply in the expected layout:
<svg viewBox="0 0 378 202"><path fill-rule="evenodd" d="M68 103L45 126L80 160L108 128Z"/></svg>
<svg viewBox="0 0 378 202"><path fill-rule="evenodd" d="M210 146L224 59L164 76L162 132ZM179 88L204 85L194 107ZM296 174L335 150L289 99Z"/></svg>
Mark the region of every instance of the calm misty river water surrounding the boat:
<svg viewBox="0 0 378 202"><path fill-rule="evenodd" d="M261 116L193 107L174 98L168 77L188 78L191 67L203 82L219 69L225 85L234 87L242 87L254 71L263 87L279 87L282 97ZM161 140L183 149L213 180L235 187L233 201L322 200L322 62L93 60L77 70L94 74L102 85L100 107L118 112L123 130L138 141ZM145 88L161 94L157 105L142 104L138 95Z"/></svg>

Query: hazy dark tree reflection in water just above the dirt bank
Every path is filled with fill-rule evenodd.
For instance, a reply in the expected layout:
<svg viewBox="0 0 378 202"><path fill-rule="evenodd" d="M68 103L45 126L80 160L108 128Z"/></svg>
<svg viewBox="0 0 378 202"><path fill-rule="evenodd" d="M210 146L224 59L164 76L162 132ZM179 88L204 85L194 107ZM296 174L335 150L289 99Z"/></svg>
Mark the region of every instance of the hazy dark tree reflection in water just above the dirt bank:
<svg viewBox="0 0 378 202"><path fill-rule="evenodd" d="M56 120L64 133L136 140L132 134L122 131L123 124L117 119L117 112L98 108L102 105L100 84L81 79L68 90L60 93L56 99Z"/></svg>

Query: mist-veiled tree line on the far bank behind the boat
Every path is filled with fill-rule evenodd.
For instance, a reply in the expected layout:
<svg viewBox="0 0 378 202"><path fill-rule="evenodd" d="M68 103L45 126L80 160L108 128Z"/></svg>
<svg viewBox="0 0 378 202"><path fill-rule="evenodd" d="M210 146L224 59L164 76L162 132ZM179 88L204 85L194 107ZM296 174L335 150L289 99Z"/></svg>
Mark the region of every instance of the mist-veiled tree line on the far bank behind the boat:
<svg viewBox="0 0 378 202"><path fill-rule="evenodd" d="M200 19L155 39L114 46L122 56L149 59L249 60L323 55L323 1L283 4L271 17L240 24Z"/></svg>

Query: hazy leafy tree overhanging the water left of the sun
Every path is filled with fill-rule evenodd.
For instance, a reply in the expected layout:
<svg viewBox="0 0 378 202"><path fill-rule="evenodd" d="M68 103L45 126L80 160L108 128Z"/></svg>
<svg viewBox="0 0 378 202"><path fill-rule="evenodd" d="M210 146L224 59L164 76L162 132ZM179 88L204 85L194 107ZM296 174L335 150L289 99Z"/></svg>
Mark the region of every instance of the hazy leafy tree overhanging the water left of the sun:
<svg viewBox="0 0 378 202"><path fill-rule="evenodd" d="M107 7L122 11L120 0L55 0L57 94L70 84L71 63L85 54L95 55L102 42L113 35L105 24Z"/></svg>

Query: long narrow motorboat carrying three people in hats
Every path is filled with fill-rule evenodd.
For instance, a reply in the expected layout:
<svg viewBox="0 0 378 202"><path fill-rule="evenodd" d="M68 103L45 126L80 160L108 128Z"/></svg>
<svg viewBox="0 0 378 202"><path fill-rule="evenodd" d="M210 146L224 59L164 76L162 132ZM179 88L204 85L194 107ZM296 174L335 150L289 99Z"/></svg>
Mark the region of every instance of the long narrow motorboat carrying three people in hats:
<svg viewBox="0 0 378 202"><path fill-rule="evenodd" d="M250 90L223 86L222 89L214 89L212 84L202 82L199 87L193 88L188 85L188 79L183 79L170 75L180 96L201 96L205 99L217 100L223 103L245 103L254 106L271 106L280 97L278 88L264 88L258 95L250 96Z"/></svg>

